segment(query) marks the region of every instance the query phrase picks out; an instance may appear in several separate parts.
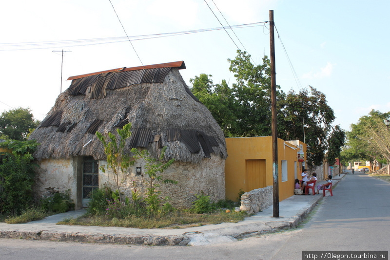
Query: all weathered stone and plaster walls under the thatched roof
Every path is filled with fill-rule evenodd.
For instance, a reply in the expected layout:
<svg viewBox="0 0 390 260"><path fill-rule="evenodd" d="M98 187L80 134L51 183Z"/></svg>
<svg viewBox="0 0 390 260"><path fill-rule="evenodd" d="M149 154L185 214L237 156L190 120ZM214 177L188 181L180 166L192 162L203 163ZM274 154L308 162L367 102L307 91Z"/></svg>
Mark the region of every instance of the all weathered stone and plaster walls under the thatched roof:
<svg viewBox="0 0 390 260"><path fill-rule="evenodd" d="M106 161L99 161L99 166L106 166ZM53 192L70 191L70 197L76 204L76 209L81 208L82 199L80 186L82 177L82 156L72 159L43 159L39 161L39 169L36 173L34 193L36 199L50 196ZM141 174L137 175L137 167L141 167ZM171 167L162 173L163 179L170 179L177 184L160 184L161 199L169 197L168 202L176 208L190 208L196 200L195 195L210 196L213 201L225 199L225 160L214 154L211 158L205 158L200 163L174 162ZM131 191L137 191L145 197L150 178L145 172L145 162L137 161L129 172L120 175L121 191L131 198ZM113 175L108 169L104 173L99 169L99 186L111 186L117 189L113 181Z"/></svg>

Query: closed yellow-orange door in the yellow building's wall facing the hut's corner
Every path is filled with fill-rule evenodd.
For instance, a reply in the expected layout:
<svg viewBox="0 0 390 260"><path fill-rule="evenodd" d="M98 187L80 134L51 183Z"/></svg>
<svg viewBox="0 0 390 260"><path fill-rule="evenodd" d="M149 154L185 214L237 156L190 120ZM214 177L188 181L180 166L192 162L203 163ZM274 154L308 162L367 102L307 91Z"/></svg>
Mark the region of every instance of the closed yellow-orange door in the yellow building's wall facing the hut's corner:
<svg viewBox="0 0 390 260"><path fill-rule="evenodd" d="M247 192L266 187L265 160L246 160Z"/></svg>

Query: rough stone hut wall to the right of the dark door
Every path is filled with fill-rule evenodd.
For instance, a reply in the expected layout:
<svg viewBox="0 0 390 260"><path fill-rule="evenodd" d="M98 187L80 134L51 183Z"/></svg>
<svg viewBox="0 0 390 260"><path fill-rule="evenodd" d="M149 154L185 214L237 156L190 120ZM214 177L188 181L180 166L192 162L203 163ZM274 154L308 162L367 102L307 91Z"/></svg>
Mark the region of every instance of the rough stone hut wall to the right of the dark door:
<svg viewBox="0 0 390 260"><path fill-rule="evenodd" d="M106 161L99 161L99 166L107 166ZM136 176L136 167L142 167L142 174ZM202 191L210 196L213 201L225 199L225 160L212 155L205 158L199 164L174 162L171 167L162 174L163 179L177 181L177 184L160 183L161 198L169 197L169 203L177 208L189 208L196 200L195 194ZM105 173L99 170L99 186L107 184L114 190L117 189L110 170ZM121 191L131 198L131 191L137 191L145 197L147 183L150 178L145 173L145 162L136 161L130 171L124 176L120 174Z"/></svg>

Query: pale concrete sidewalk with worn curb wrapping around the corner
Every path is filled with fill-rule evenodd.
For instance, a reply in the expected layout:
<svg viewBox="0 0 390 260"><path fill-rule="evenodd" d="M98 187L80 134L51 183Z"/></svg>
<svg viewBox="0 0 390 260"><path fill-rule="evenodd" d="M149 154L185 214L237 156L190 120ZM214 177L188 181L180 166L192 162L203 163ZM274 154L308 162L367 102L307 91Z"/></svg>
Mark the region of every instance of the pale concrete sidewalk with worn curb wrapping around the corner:
<svg viewBox="0 0 390 260"><path fill-rule="evenodd" d="M334 176L333 187L345 176ZM319 182L319 184L325 183ZM327 191L326 196L330 196ZM337 190L333 198L337 198ZM234 241L251 235L296 227L323 199L319 195L294 195L279 203L279 218L273 218L273 206L239 223L220 223L182 229L139 229L57 225L63 219L78 217L85 210L53 215L40 221L24 224L0 223L0 238L32 240L122 243L137 245L204 245Z"/></svg>

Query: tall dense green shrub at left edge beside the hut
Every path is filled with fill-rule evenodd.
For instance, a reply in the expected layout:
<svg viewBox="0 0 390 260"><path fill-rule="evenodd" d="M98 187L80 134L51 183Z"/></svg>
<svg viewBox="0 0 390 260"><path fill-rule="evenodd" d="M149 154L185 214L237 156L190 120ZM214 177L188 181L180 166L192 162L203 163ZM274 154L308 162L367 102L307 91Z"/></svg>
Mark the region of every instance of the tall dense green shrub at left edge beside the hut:
<svg viewBox="0 0 390 260"><path fill-rule="evenodd" d="M32 153L35 141L8 141L1 143L0 161L0 213L18 215L32 204L34 167ZM11 152L10 152L11 151Z"/></svg>

